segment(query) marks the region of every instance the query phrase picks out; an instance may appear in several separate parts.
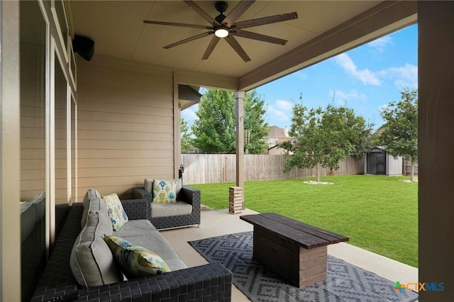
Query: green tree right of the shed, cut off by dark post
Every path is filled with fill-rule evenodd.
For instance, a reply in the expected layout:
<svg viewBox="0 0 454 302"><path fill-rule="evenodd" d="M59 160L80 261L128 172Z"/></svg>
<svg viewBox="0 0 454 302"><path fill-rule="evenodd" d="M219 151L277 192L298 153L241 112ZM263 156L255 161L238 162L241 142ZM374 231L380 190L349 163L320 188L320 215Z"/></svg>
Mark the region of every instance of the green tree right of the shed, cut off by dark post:
<svg viewBox="0 0 454 302"><path fill-rule="evenodd" d="M411 161L411 181L414 181L414 164L418 162L418 90L405 88L401 101L390 102L380 112L386 122L380 134L380 144L394 156Z"/></svg>

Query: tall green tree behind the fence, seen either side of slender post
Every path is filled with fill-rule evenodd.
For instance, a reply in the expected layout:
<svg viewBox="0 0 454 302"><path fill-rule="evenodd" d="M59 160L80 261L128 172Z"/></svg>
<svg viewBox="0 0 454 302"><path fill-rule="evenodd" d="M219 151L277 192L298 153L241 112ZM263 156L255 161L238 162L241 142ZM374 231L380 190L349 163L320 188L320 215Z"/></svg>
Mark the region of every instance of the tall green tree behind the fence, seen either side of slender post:
<svg viewBox="0 0 454 302"><path fill-rule="evenodd" d="M249 142L245 149L260 154L267 145L263 139L268 133L265 122L265 101L256 91L245 93L244 128ZM207 89L201 97L198 119L192 125L194 146L209 153L234 153L236 150L235 96L231 91Z"/></svg>

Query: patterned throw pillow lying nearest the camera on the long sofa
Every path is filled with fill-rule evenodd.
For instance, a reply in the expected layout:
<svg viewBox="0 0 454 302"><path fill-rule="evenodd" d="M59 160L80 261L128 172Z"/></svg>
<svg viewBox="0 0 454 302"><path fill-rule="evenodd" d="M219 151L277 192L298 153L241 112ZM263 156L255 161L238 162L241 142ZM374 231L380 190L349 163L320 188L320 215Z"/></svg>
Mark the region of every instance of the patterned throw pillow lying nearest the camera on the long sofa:
<svg viewBox="0 0 454 302"><path fill-rule="evenodd" d="M165 261L145 247L134 245L116 236L106 235L104 240L109 245L121 271L128 279L170 272Z"/></svg>

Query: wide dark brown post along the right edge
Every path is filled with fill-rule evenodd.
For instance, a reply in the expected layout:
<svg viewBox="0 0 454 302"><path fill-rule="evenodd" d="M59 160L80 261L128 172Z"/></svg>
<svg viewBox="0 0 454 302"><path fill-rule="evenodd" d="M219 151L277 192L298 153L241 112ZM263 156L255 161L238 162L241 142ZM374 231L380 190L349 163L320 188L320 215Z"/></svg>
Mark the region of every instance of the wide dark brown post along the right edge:
<svg viewBox="0 0 454 302"><path fill-rule="evenodd" d="M418 1L419 282L432 286L419 301L454 299L453 14L453 1Z"/></svg>

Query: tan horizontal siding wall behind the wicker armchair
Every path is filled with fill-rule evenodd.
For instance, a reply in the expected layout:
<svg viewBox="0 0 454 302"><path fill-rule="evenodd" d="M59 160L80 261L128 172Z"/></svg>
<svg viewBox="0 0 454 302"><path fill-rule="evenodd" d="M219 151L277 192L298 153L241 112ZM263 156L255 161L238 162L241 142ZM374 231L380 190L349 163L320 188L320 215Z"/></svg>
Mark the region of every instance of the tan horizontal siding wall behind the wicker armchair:
<svg viewBox="0 0 454 302"><path fill-rule="evenodd" d="M79 60L77 82L79 200L173 178L172 72L103 57Z"/></svg>

